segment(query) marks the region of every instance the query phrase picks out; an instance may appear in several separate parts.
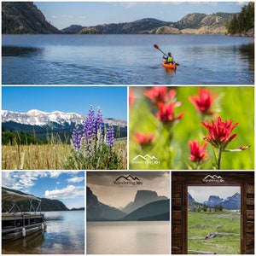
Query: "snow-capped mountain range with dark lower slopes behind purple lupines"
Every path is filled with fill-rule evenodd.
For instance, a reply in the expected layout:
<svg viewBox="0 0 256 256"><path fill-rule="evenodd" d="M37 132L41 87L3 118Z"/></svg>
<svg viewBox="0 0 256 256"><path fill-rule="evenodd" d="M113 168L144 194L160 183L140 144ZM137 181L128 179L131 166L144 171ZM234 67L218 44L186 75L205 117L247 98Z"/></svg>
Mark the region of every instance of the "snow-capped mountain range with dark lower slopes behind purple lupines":
<svg viewBox="0 0 256 256"><path fill-rule="evenodd" d="M32 109L26 113L2 111L2 127L5 131L23 131L45 139L46 132L71 134L76 125L82 127L85 116L79 113L63 113L55 111L51 113ZM115 131L119 131L119 137L127 137L127 122L120 119L103 119L108 127L113 125Z"/></svg>

